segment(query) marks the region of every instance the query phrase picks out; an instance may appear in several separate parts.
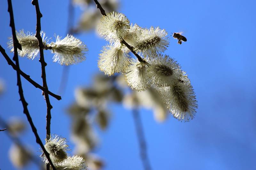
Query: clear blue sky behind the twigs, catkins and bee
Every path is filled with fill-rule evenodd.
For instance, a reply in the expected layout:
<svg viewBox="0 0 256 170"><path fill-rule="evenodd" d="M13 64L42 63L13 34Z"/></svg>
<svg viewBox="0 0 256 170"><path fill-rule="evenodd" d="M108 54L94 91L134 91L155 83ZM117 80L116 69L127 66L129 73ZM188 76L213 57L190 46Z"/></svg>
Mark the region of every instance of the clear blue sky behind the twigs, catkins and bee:
<svg viewBox="0 0 256 170"><path fill-rule="evenodd" d="M64 37L67 27L68 1L39 1L43 14L42 30L53 37ZM171 45L165 54L175 58L185 70L195 89L198 109L187 123L169 116L157 123L153 113L141 110L148 144L148 155L154 170L251 170L256 169L256 22L255 1L153 1L123 0L119 12L131 23L142 27L159 26L171 32L183 31L188 41ZM31 1L13 0L16 29L35 33L35 8ZM76 9L79 16L79 8ZM7 38L11 36L7 1L0 3L0 44L7 54ZM94 32L78 36L89 48L87 60L71 67L67 90L61 101L50 98L52 132L70 141L70 120L65 108L74 101L74 89L89 85L97 68L98 54L106 41ZM57 92L62 67L52 62L45 52L47 83ZM40 63L20 58L21 69L41 83ZM17 115L26 120L19 101L16 72L0 55L0 78L5 80L6 92L0 97L0 114L6 120ZM45 137L45 101L41 91L22 79L28 108L41 139ZM105 170L143 169L140 161L132 114L122 106L111 106L112 120L106 132L99 131L101 140L96 153L106 162ZM8 158L12 141L0 133L0 168L14 169ZM22 137L38 151L34 135L28 131ZM39 152L36 152L39 155ZM36 168L34 164L27 167Z"/></svg>

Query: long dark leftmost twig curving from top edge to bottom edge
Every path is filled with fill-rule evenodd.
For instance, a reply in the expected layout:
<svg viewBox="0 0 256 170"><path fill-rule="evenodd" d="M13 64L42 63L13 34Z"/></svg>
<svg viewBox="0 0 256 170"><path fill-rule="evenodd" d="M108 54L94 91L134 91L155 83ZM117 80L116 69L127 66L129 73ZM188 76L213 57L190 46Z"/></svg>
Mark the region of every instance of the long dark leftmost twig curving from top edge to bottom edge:
<svg viewBox="0 0 256 170"><path fill-rule="evenodd" d="M10 13L10 26L12 28L12 37L13 37L13 48L14 48L14 56L13 56L13 60L16 62L16 66L17 66L17 85L19 87L19 94L20 94L20 101L23 105L23 113L27 116L27 119L28 119L28 122L31 126L31 129L32 131L34 132L35 134L35 137L36 137L36 143L38 143L47 160L50 162L52 168L54 170L56 170L56 168L54 167L53 163L52 163L52 160L50 159L50 155L49 153L45 150L44 148L44 144L42 143L38 133L37 133L37 129L32 121L32 118L28 112L28 103L26 102L25 98L24 98L24 95L23 95L23 89L22 89L22 85L21 85L21 80L20 80L20 65L19 65L19 58L18 58L18 49L19 48L20 50L21 49L21 45L19 43L19 41L17 40L17 37L16 37L16 31L15 31L15 25L14 25L14 17L13 17L13 11L12 11L12 1L11 0L8 0L8 12Z"/></svg>

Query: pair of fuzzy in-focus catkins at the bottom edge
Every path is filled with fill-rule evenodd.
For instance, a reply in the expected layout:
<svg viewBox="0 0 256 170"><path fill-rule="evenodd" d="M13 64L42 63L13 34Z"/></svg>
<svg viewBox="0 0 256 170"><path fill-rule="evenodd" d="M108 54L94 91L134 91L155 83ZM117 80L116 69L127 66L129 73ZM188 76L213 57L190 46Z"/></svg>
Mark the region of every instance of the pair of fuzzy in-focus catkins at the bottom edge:
<svg viewBox="0 0 256 170"><path fill-rule="evenodd" d="M87 164L84 158L80 156L68 156L67 150L69 146L66 138L59 137L57 135L51 135L50 139L45 139L44 145L46 151L50 154L53 165L58 170L86 170ZM41 151L43 152L43 151ZM48 164L48 160L44 153L40 156L45 164Z"/></svg>

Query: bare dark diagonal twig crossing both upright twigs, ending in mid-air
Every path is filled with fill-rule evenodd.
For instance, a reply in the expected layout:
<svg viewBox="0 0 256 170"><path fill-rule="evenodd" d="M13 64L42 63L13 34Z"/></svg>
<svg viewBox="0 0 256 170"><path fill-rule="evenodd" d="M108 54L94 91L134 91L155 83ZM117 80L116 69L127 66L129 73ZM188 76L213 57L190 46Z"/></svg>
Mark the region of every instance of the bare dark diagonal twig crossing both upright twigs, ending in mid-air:
<svg viewBox="0 0 256 170"><path fill-rule="evenodd" d="M2 46L0 45L0 52L2 53L2 55L4 56L5 60L7 61L7 63L12 66L13 70L17 71L17 66L12 62L11 58L5 53L4 48L2 48ZM34 80L32 80L30 78L29 75L27 75L26 73L24 73L21 70L18 70L19 74L24 77L26 80L28 80L29 83L31 83L32 85L34 85L36 88L41 89L42 91L44 91L45 93L48 93L49 95L51 95L52 97L56 98L57 100L61 100L61 97L54 94L53 92L50 92L49 90L45 89L44 87L42 87L41 85L39 85L38 83L36 83Z"/></svg>

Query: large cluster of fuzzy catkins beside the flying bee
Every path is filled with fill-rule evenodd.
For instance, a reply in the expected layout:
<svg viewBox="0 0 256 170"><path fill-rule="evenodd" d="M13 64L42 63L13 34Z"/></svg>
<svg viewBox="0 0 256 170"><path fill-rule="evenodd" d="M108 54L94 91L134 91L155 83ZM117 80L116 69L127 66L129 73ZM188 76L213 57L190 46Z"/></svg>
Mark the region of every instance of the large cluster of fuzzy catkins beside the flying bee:
<svg viewBox="0 0 256 170"><path fill-rule="evenodd" d="M98 32L109 41L99 57L101 71L108 76L123 73L127 84L137 91L154 87L175 118L193 119L197 101L190 80L174 59L161 54L169 45L164 29L130 25L124 14L111 12L101 18ZM143 58L130 57L123 40Z"/></svg>

